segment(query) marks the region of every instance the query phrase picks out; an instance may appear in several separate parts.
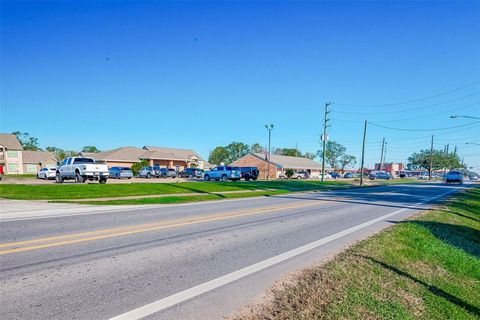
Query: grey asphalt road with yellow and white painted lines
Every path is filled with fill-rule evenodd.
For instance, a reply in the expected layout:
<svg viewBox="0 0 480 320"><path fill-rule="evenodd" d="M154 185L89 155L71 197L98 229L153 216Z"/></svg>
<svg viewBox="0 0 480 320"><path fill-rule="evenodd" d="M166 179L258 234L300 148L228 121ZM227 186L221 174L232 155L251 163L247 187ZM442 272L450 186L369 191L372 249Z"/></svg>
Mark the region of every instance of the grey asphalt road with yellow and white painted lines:
<svg viewBox="0 0 480 320"><path fill-rule="evenodd" d="M40 216L25 213L35 203L23 204L0 217L0 318L221 319L285 274L459 188L392 185L98 213L105 208L49 214L42 204Z"/></svg>

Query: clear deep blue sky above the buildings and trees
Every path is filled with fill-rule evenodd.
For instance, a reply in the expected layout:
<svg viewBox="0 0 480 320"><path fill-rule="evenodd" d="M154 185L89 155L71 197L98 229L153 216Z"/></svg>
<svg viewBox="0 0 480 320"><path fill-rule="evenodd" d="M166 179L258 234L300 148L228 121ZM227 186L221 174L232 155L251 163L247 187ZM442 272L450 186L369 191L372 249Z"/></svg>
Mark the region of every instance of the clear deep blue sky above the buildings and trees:
<svg viewBox="0 0 480 320"><path fill-rule="evenodd" d="M359 158L366 119L428 130L480 116L478 2L2 1L1 18L0 131L43 147L208 156L265 145L273 123L273 146L315 151L331 101L330 139ZM480 147L465 144L480 143L479 124L369 126L366 162L382 137L387 161L404 162L432 133L480 169Z"/></svg>

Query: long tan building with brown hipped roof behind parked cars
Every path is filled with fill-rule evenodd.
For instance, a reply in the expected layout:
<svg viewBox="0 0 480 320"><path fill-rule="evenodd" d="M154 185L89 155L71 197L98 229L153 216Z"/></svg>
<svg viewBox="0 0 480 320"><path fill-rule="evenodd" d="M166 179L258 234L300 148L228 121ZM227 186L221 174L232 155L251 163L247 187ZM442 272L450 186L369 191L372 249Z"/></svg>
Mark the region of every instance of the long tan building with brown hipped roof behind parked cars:
<svg viewBox="0 0 480 320"><path fill-rule="evenodd" d="M181 171L185 168L198 167L206 169L210 164L198 153L189 149L165 148L145 146L121 147L109 151L97 153L82 152L84 157L92 157L97 161L103 161L110 167L131 167L134 163L146 160L149 165L158 165L165 168L173 168Z"/></svg>

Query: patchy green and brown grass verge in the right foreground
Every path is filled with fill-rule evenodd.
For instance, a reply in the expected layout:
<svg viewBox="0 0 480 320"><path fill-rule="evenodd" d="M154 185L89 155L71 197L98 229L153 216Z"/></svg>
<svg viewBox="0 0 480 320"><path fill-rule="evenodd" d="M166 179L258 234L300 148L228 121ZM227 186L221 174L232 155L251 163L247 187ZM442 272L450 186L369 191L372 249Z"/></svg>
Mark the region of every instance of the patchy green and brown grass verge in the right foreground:
<svg viewBox="0 0 480 320"><path fill-rule="evenodd" d="M480 319L480 188L360 242L233 319Z"/></svg>

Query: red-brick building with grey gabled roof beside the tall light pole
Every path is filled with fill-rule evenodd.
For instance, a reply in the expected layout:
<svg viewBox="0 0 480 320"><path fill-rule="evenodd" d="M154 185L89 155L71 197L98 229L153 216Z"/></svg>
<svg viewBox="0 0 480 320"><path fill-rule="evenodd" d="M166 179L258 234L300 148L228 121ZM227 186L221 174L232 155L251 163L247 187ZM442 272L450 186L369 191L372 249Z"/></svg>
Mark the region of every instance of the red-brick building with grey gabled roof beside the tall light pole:
<svg viewBox="0 0 480 320"><path fill-rule="evenodd" d="M237 167L257 167L260 172L260 178L266 178L268 167L270 166L270 179L276 179L287 169L294 171L307 171L310 176L319 176L322 172L322 165L314 160L302 157L270 155L270 161L266 160L263 153L249 153L244 157L232 162L231 166Z"/></svg>

